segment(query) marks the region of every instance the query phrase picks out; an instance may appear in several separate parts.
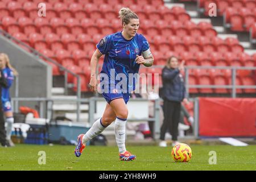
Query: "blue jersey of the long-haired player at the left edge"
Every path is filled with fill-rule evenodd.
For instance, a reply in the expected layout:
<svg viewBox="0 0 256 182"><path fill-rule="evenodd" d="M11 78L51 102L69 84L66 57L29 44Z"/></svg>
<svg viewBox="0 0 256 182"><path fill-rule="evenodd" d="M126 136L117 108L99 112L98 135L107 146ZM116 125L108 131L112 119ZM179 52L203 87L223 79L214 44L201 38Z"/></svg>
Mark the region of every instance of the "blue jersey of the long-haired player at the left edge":
<svg viewBox="0 0 256 182"><path fill-rule="evenodd" d="M11 84L13 84L14 80L13 71L11 71L10 68L6 67L5 69L3 69L3 76L5 76L7 80L7 88L2 86L2 102L5 102L10 101L9 89L11 87Z"/></svg>

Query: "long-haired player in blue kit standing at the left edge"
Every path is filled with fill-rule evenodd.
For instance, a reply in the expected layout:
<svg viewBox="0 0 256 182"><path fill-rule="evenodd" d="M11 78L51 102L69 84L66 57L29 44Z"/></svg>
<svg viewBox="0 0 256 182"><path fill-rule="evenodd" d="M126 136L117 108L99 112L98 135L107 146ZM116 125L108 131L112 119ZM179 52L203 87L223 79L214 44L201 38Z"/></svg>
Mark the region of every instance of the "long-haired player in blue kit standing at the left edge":
<svg viewBox="0 0 256 182"><path fill-rule="evenodd" d="M6 117L6 140L9 142L10 146L14 146L14 143L11 141L11 129L13 127L14 118L13 110L11 108L11 97L9 94L9 89L13 84L14 76L18 75L18 72L10 64L8 55L5 53L0 54L0 69L2 69L3 76L7 80L7 87L2 87L2 105L3 112Z"/></svg>

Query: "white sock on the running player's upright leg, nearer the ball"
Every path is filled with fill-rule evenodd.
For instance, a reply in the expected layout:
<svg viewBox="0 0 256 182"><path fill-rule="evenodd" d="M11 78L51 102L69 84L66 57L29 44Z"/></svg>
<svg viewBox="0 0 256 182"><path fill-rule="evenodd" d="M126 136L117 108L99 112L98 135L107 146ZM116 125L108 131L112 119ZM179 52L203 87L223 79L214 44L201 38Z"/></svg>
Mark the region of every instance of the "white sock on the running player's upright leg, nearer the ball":
<svg viewBox="0 0 256 182"><path fill-rule="evenodd" d="M126 119L118 118L115 119L115 140L117 141L117 146L119 153L126 151L125 148L125 125Z"/></svg>

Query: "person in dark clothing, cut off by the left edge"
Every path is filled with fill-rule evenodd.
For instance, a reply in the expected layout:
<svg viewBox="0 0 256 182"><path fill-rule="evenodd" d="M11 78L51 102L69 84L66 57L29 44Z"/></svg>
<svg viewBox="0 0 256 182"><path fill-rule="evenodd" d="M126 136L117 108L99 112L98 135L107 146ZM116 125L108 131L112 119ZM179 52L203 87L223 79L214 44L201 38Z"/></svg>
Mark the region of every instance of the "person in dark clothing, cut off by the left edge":
<svg viewBox="0 0 256 182"><path fill-rule="evenodd" d="M5 76L3 76L3 71L0 69L0 96L2 96L2 86L7 87L7 81ZM2 100L0 100L0 143L1 146L7 146Z"/></svg>

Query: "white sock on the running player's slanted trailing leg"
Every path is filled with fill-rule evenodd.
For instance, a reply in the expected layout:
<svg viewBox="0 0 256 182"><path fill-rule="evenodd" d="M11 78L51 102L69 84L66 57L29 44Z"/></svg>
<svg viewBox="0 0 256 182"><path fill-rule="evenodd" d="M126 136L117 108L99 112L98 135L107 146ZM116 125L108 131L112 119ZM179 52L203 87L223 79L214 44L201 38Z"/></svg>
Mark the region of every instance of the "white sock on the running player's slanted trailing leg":
<svg viewBox="0 0 256 182"><path fill-rule="evenodd" d="M88 142L93 137L96 137L102 131L105 130L105 126L102 125L101 118L98 119L96 122L93 123L93 126L86 132L84 137L82 137L82 143Z"/></svg>

